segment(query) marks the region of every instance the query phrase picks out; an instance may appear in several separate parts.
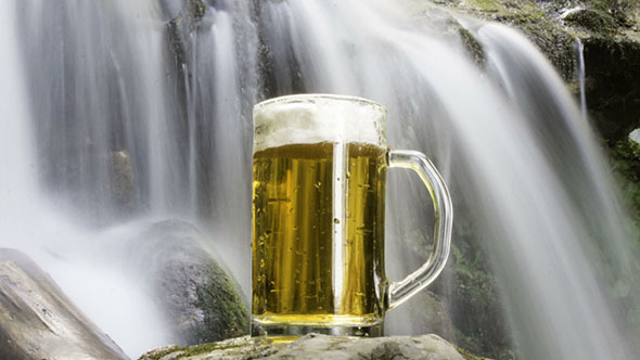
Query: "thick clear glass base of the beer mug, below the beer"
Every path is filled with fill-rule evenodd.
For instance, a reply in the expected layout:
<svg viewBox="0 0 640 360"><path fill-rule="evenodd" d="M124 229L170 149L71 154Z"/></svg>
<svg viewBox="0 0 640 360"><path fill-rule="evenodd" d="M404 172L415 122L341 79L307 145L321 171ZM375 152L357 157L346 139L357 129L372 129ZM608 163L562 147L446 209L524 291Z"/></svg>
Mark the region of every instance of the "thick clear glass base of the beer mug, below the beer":
<svg viewBox="0 0 640 360"><path fill-rule="evenodd" d="M371 319L358 317L356 319L349 317L349 321L340 321L346 319L341 319L342 317L340 316L331 316L332 321L277 321L299 320L300 318L305 318L305 316L253 317L252 336L265 337L276 343L284 343L293 342L309 333L358 337L376 337L384 335L384 321L380 318Z"/></svg>

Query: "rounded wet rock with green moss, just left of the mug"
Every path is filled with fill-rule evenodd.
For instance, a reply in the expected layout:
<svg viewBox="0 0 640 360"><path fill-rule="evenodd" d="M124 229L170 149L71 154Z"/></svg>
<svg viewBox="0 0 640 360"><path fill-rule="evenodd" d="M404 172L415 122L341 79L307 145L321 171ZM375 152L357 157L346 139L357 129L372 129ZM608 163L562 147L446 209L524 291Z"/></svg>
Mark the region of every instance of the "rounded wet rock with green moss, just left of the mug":
<svg viewBox="0 0 640 360"><path fill-rule="evenodd" d="M248 311L232 278L203 247L192 224L167 220L129 244L129 261L165 313L176 343L193 345L248 333Z"/></svg>

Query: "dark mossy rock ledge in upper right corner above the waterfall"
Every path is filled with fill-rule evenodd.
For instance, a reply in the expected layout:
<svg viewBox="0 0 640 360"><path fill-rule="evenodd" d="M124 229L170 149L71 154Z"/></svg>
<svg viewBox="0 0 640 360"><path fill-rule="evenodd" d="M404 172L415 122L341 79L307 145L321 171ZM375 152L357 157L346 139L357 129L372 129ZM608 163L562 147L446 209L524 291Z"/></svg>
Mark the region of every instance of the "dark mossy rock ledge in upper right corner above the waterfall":
<svg viewBox="0 0 640 360"><path fill-rule="evenodd" d="M640 3L632 0L410 0L427 17L449 11L479 66L483 49L466 31L473 21L495 21L529 38L569 89L579 92L576 42L584 44L590 119L610 145L640 127Z"/></svg>

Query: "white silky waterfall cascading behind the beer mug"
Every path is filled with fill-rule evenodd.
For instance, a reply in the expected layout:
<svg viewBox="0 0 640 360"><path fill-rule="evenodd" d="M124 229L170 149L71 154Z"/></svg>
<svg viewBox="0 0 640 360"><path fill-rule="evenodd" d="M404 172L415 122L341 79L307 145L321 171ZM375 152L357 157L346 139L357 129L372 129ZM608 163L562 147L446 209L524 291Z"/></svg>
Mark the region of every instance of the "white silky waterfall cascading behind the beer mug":
<svg viewBox="0 0 640 360"><path fill-rule="evenodd" d="M251 107L335 92L385 104L389 143L428 154L459 214L478 219L524 359L631 359L600 271L638 282L624 211L591 130L522 36L461 20L484 48L483 76L459 42L411 15L428 10L417 1L212 1L193 15L194 3L0 7L10 50L0 100L15 114L0 134L3 164L15 165L0 179L0 210L17 219L0 223L13 239L2 245L37 252L129 355L172 339L150 331L159 325L149 295L117 269L121 240L150 218L197 222L248 294ZM413 180L389 180L387 263L397 277L417 266L399 240L427 229ZM82 284L138 300L75 291L79 269L92 269ZM135 320L102 321L104 309ZM421 332L408 317L389 312L388 333Z"/></svg>

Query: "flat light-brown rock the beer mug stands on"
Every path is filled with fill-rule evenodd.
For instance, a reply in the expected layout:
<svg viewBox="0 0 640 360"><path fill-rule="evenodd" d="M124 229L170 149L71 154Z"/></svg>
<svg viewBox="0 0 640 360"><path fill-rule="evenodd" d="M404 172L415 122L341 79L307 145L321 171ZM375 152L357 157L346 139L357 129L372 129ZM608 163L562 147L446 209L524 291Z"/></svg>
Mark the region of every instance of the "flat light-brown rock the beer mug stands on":
<svg viewBox="0 0 640 360"><path fill-rule="evenodd" d="M455 346L430 334L351 338L309 334L290 344L264 344L248 336L194 347L166 347L144 353L140 360L248 360L248 359L404 359L473 360ZM479 359L478 359L479 360Z"/></svg>

